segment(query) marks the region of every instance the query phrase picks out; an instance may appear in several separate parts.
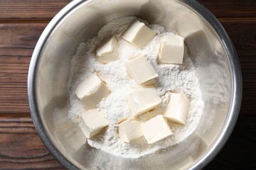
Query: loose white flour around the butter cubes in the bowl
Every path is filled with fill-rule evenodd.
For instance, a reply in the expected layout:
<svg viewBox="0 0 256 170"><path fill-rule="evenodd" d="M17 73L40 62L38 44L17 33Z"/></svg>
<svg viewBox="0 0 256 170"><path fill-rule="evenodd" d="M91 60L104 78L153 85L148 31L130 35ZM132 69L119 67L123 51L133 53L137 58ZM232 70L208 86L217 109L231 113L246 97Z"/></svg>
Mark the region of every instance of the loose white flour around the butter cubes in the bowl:
<svg viewBox="0 0 256 170"><path fill-rule="evenodd" d="M149 26L156 31L157 35L149 45L146 45L146 47L140 50L121 38L125 28L129 26L129 23L131 23L133 19L134 17L127 17L110 21L110 23L107 23L107 25L99 31L97 37L81 43L76 55L73 56L68 82L71 106L68 116L74 123L78 123L80 115L85 111L84 106L78 97L75 96L75 89L80 81L89 77L93 72L97 72L99 77L106 82L111 94L107 96L107 98L104 98L97 105L97 108L100 108L105 113L105 118L110 120L110 126L99 135L88 139L87 142L97 149L129 158L141 157L144 154L149 154L158 149L166 148L183 141L196 129L203 109L201 91L196 77L196 68L193 66L187 53L185 52L182 65L158 64L156 61L159 52L159 39L163 35L172 33L167 32L164 27L161 26ZM108 64L101 64L95 59L95 47L97 47L103 39L112 34L117 35L119 42L119 60ZM174 135L160 142L156 142L156 144L153 145L147 144L144 137L134 142L124 143L121 142L117 136L116 123L125 115L129 115L126 96L135 84L134 80L129 79L123 63L127 61L129 57L137 54L146 55L159 74L156 90L162 99L162 104L159 107L149 113L140 115L140 121L144 122L149 118L153 118L155 115L163 113L169 102L170 91L182 91L191 99L186 126L169 122Z"/></svg>

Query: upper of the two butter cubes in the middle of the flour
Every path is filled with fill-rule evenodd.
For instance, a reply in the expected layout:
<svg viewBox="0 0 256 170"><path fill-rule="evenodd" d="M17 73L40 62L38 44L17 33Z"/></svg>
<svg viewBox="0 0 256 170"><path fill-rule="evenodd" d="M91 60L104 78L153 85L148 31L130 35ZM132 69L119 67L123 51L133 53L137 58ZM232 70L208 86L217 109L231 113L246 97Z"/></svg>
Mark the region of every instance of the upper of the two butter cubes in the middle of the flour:
<svg viewBox="0 0 256 170"><path fill-rule="evenodd" d="M156 82L158 74L144 55L124 63L127 72L137 84L150 85Z"/></svg>

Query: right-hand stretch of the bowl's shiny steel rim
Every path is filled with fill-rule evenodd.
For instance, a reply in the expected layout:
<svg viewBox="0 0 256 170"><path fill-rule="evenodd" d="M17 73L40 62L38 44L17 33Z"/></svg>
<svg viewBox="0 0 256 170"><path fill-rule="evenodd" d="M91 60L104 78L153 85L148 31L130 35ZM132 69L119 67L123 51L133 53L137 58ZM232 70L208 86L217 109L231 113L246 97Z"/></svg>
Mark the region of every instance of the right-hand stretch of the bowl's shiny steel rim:
<svg viewBox="0 0 256 170"><path fill-rule="evenodd" d="M203 16L213 30L215 30L215 33L217 33L218 37L220 38L220 42L222 42L223 46L225 47L230 62L230 71L233 73L232 98L230 99L229 114L225 120L223 129L220 131L213 144L208 148L208 151L201 155L201 158L199 158L199 160L190 167L190 169L203 169L204 166L210 163L210 161L217 156L235 128L235 123L238 120L242 102L242 73L235 46L233 45L232 40L228 36L228 33L225 31L225 28L223 28L220 21L218 21L218 19L208 10L208 8L200 4L198 1L182 1Z"/></svg>

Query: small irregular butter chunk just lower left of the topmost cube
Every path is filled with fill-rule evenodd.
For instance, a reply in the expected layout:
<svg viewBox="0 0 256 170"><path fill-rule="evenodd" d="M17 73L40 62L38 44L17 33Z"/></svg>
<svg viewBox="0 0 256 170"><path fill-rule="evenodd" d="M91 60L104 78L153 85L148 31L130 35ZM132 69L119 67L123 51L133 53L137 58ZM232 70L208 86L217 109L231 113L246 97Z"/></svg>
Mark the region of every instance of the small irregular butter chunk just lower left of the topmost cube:
<svg viewBox="0 0 256 170"><path fill-rule="evenodd" d="M112 35L105 40L96 50L97 60L103 64L113 62L118 59L118 42L117 38Z"/></svg>

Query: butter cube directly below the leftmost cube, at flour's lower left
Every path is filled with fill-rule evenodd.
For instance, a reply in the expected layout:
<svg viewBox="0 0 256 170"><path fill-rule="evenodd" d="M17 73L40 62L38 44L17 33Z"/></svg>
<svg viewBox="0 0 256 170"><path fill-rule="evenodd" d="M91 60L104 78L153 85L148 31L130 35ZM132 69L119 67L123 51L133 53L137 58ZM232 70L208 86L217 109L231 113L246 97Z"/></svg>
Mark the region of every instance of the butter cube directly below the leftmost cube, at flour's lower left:
<svg viewBox="0 0 256 170"><path fill-rule="evenodd" d="M109 124L109 121L103 117L102 113L95 109L82 113L79 123L82 132L87 138L97 135Z"/></svg>

